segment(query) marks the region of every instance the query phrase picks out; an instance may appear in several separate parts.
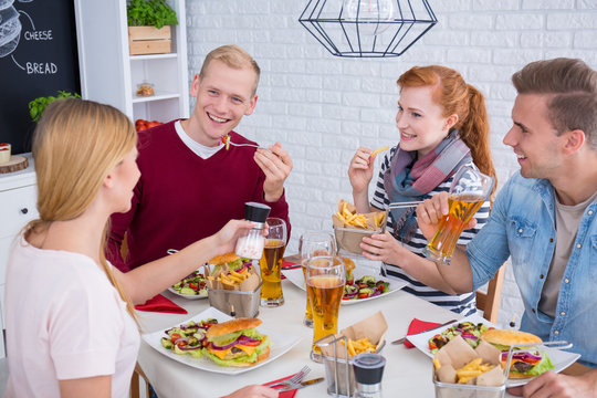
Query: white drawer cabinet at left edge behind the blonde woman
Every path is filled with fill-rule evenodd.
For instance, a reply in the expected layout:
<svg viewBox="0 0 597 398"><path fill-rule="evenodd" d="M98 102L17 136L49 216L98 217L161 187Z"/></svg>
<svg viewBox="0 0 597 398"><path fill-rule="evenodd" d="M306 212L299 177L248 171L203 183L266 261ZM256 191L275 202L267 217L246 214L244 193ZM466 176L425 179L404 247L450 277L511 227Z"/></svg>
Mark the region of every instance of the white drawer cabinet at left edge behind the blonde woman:
<svg viewBox="0 0 597 398"><path fill-rule="evenodd" d="M21 171L0 175L0 317L4 329L4 284L10 249L19 231L31 220L38 218L35 171L31 155L29 167ZM0 335L0 358L4 357L4 339Z"/></svg>

